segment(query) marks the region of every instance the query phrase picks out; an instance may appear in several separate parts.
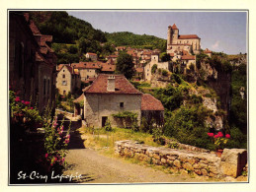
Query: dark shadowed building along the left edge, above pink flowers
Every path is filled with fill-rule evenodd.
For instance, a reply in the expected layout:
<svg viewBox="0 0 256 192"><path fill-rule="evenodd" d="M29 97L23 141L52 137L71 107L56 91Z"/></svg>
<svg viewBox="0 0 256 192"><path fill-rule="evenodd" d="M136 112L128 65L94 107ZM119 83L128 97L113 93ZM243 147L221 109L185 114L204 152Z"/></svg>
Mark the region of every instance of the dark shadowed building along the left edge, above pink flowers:
<svg viewBox="0 0 256 192"><path fill-rule="evenodd" d="M22 99L38 103L43 112L54 106L56 55L50 48L51 35L43 35L29 14L10 12L9 84Z"/></svg>

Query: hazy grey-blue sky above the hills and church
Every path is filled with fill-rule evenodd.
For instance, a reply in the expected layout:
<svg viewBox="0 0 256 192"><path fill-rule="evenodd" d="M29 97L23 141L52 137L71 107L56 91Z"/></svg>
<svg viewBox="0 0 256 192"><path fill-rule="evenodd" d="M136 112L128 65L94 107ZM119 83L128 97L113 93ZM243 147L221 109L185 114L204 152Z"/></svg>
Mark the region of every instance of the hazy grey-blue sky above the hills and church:
<svg viewBox="0 0 256 192"><path fill-rule="evenodd" d="M203 49L227 54L247 52L247 12L68 11L103 32L133 32L167 38L168 26L198 34Z"/></svg>

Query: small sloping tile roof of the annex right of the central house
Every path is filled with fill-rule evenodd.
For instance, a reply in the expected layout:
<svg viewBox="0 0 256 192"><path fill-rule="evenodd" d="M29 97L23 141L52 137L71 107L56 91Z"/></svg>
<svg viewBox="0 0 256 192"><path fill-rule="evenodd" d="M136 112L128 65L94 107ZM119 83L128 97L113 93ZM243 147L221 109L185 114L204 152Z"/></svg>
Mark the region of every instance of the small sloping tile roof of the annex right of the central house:
<svg viewBox="0 0 256 192"><path fill-rule="evenodd" d="M163 104L150 94L141 96L141 110L164 110Z"/></svg>

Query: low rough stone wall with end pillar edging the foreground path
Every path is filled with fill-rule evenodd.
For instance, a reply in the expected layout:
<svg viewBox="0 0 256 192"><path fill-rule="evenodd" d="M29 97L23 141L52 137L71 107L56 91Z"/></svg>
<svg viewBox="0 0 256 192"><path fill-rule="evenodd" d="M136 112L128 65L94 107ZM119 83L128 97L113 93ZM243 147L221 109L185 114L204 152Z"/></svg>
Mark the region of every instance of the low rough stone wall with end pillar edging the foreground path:
<svg viewBox="0 0 256 192"><path fill-rule="evenodd" d="M198 175L215 178L225 175L238 176L240 167L244 167L247 161L244 158L247 156L245 150L225 149L220 159L213 153L189 152L164 147L156 148L128 140L116 142L115 152L123 157L166 165L172 170L194 172ZM229 162L232 162L232 166L228 166Z"/></svg>

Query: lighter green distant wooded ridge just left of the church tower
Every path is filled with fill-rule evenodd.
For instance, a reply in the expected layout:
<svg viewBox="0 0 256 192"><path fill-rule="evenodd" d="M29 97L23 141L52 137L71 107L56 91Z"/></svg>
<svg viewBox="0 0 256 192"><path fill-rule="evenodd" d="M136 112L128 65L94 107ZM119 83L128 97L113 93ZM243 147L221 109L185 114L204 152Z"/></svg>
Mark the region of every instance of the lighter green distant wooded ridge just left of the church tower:
<svg viewBox="0 0 256 192"><path fill-rule="evenodd" d="M134 34L132 32L106 32L108 41L116 46L132 46L139 48L158 48L162 52L166 51L166 39L147 34Z"/></svg>

